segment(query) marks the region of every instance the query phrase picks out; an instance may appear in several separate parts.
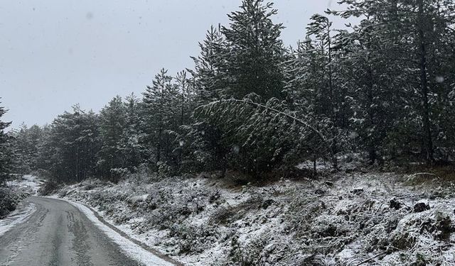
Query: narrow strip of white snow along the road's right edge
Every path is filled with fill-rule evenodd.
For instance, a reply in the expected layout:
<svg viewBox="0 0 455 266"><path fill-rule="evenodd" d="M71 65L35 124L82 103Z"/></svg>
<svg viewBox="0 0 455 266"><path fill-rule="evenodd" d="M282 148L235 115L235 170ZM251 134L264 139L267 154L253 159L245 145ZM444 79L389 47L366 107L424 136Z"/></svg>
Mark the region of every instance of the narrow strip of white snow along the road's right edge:
<svg viewBox="0 0 455 266"><path fill-rule="evenodd" d="M65 200L65 199L60 199L60 200ZM171 262L168 262L166 260L161 259L160 257L157 257L156 255L150 253L147 250L144 250L144 248L141 248L140 245L137 245L136 243L133 243L131 240L124 238L122 235L114 231L112 228L109 228L109 226L105 225L105 223L102 223L97 216L93 213L92 210L87 208L87 206L84 206L80 203L65 200L68 203L72 204L75 206L77 209L79 209L87 218L90 219L95 225L100 228L103 232L106 233L109 238L111 238L119 247L126 253L129 257L132 257L132 259L137 260L138 262L143 263L144 265L154 265L154 266L171 266L173 265Z"/></svg>

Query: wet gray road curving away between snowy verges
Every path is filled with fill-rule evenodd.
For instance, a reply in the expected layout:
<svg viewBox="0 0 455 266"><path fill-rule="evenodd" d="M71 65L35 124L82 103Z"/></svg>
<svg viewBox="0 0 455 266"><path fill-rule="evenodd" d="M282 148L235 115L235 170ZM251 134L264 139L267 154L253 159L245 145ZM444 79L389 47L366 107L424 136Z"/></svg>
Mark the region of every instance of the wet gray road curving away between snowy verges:
<svg viewBox="0 0 455 266"><path fill-rule="evenodd" d="M23 204L36 211L0 236L0 265L143 265L72 204L35 196Z"/></svg>

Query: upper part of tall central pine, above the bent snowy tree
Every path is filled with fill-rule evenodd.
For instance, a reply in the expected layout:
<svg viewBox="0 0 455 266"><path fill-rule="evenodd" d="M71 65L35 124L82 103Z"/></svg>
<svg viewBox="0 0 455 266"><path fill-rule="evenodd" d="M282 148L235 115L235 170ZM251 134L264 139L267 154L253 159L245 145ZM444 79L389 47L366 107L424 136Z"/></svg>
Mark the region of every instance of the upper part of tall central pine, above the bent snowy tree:
<svg viewBox="0 0 455 266"><path fill-rule="evenodd" d="M243 0L240 11L228 15L230 26L221 28L226 45L220 67L228 97L254 93L263 101L282 98L285 49L279 37L284 27L273 23L276 14L272 3Z"/></svg>

